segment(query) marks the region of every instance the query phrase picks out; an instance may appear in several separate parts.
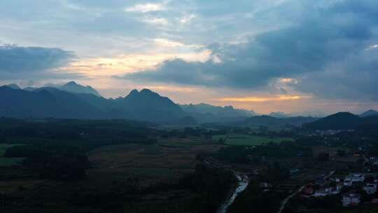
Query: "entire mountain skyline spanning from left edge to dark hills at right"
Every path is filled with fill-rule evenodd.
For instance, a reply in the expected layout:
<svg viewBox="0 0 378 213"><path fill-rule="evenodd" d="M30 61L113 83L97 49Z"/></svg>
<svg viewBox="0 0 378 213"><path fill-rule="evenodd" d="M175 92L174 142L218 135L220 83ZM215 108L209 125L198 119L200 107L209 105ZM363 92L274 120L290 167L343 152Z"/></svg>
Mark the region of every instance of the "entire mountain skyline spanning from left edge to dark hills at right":
<svg viewBox="0 0 378 213"><path fill-rule="evenodd" d="M176 104L148 89L132 90L125 97L106 99L90 86L73 81L42 88L0 87L0 116L15 118L130 119L153 123L241 123L242 125L301 126L311 129L350 128L361 120L374 120L377 111L360 116L335 114L325 118L288 116L274 112L260 116L254 111L210 104Z"/></svg>

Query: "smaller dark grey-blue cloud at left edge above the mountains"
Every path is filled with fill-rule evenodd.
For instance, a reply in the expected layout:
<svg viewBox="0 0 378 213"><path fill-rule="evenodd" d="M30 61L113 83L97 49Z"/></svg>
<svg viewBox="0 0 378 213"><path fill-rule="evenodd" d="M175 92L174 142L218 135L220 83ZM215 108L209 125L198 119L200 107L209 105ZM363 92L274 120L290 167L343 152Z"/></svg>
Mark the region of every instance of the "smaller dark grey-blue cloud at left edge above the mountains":
<svg viewBox="0 0 378 213"><path fill-rule="evenodd" d="M0 76L13 79L51 75L46 72L64 67L74 58L73 53L59 48L0 46Z"/></svg>

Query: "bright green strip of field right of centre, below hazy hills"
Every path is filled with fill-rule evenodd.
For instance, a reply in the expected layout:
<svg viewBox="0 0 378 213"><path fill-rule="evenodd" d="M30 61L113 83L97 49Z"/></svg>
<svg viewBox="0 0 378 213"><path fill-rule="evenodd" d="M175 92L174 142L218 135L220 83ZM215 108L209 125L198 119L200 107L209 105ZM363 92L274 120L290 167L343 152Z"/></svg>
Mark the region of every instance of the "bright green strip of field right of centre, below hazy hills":
<svg viewBox="0 0 378 213"><path fill-rule="evenodd" d="M282 141L294 141L292 137L269 137L255 135L214 135L213 139L218 141L220 138L225 139L226 145L234 146L258 146L269 142L281 143Z"/></svg>

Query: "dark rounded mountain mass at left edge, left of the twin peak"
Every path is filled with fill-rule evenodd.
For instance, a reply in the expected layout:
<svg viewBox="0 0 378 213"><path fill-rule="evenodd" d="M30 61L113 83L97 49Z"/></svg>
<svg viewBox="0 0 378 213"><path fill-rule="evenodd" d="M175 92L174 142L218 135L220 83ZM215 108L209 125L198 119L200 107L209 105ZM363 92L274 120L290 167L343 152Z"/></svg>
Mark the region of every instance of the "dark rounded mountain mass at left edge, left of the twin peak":
<svg viewBox="0 0 378 213"><path fill-rule="evenodd" d="M70 92L39 88L32 92L0 87L0 116L15 118L105 118L102 111Z"/></svg>

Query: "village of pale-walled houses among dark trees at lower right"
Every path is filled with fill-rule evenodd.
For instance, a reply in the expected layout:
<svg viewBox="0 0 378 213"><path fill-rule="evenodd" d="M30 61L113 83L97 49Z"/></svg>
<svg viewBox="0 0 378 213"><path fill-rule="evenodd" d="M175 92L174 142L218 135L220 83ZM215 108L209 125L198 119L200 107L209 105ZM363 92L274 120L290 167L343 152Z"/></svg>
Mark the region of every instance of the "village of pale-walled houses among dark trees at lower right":
<svg viewBox="0 0 378 213"><path fill-rule="evenodd" d="M354 153L353 156L357 154ZM323 174L293 193L290 204L295 203L296 206L307 210L314 206L329 209L355 209L362 205L363 207L376 206L378 204L378 174L376 172L378 158L365 158L365 156L363 158L365 163L362 165L365 172L340 174L341 172L332 171L328 175Z"/></svg>

